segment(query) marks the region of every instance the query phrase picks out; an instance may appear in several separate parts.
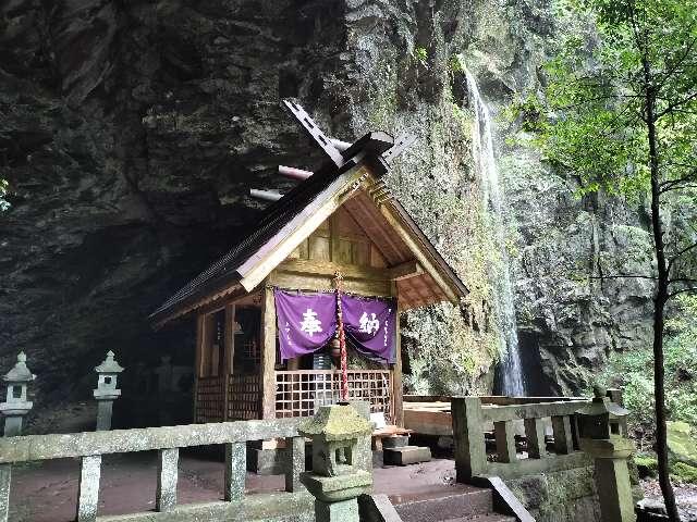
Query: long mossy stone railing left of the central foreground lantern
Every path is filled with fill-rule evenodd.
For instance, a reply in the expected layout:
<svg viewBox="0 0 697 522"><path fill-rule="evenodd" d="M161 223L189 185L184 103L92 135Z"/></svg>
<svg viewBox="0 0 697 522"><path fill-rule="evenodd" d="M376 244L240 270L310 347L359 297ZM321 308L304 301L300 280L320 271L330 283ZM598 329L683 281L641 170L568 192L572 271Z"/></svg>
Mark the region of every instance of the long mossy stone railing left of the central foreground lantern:
<svg viewBox="0 0 697 522"><path fill-rule="evenodd" d="M68 435L30 435L0 439L0 522L10 510L12 467L24 462L80 458L77 522L129 520L254 520L280 512L311 512L311 497L304 492L299 474L305 469L305 439L297 432L302 419L223 422L187 426L114 430ZM285 438L285 492L244 495L246 443ZM180 448L224 445L224 501L178 505L178 463ZM119 517L98 517L99 481L103 455L158 451L155 512ZM271 513L272 512L272 513ZM299 519L298 519L299 520Z"/></svg>

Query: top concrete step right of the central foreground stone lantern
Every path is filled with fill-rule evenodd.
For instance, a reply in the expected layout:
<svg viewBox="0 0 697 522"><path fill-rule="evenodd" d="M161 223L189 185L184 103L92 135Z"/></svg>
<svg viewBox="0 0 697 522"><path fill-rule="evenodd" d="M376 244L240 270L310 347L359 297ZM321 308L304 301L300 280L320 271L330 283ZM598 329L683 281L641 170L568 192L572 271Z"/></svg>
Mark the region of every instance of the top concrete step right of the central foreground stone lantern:
<svg viewBox="0 0 697 522"><path fill-rule="evenodd" d="M393 504L404 522L442 522L453 515L462 518L490 514L493 509L492 498L490 489L470 487L465 492L445 489L414 495L411 498L394 499ZM400 500L401 504L396 504ZM481 520L489 522L487 519Z"/></svg>

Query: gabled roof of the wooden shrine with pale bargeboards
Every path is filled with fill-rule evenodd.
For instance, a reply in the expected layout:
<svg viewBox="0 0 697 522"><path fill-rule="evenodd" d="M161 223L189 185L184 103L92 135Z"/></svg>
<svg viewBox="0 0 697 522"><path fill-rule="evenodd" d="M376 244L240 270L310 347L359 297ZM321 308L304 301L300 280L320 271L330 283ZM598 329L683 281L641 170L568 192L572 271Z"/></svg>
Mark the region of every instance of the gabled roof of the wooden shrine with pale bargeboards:
<svg viewBox="0 0 697 522"><path fill-rule="evenodd" d="M409 245L405 244L404 239L390 239L390 243L399 243L402 251L406 249L416 254L411 257L416 257L431 269L425 274L426 279L421 286L432 284L441 287L430 297L424 297L423 303L433 300L456 301L466 296L465 285L406 210L391 197L384 196L384 187L379 178L388 164L382 161L384 154L380 154L392 145L391 138L388 140L386 136L384 133L369 133L343 152L344 158L350 159L342 165L337 166L333 162L328 162L272 203L247 237L162 303L150 315L150 320L163 324L212 300L207 299L211 296L218 298L222 295L244 295L252 291L299 241L309 236L339 207L350 201L355 208L354 212L358 213L362 209L368 212L364 220L374 223L380 221L383 228L390 226L391 221L392 226L406 231L403 235ZM359 189L366 184L371 184L371 191L379 195L379 208L365 190ZM362 198L356 197L358 192L362 194ZM372 208L369 209L370 207ZM389 235L393 236L394 231L389 231L388 234L382 231L382 237ZM271 261L268 259L269 256L273 258ZM399 260L399 254L395 256L394 259ZM414 291L418 296L417 290ZM418 297L415 302L420 302Z"/></svg>

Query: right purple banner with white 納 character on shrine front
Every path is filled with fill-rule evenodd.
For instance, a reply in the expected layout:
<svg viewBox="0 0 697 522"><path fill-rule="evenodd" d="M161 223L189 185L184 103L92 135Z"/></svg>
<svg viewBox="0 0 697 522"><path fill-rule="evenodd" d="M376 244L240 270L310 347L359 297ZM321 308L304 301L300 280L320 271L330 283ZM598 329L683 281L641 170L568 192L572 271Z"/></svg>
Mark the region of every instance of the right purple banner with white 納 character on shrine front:
<svg viewBox="0 0 697 522"><path fill-rule="evenodd" d="M395 362L396 302L377 297L341 296L347 337L362 353Z"/></svg>

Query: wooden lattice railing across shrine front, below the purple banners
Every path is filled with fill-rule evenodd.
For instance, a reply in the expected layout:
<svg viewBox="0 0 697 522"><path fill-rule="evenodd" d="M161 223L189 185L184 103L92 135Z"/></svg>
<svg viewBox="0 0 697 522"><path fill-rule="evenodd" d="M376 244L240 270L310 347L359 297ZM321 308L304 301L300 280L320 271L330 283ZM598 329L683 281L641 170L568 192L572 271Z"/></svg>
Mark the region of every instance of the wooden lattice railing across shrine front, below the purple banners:
<svg viewBox="0 0 697 522"><path fill-rule="evenodd" d="M322 405L340 399L341 372L338 370L294 370L276 372L276 417L309 417ZM364 400L370 412L384 413L392 422L394 411L392 372L348 370L348 400Z"/></svg>

